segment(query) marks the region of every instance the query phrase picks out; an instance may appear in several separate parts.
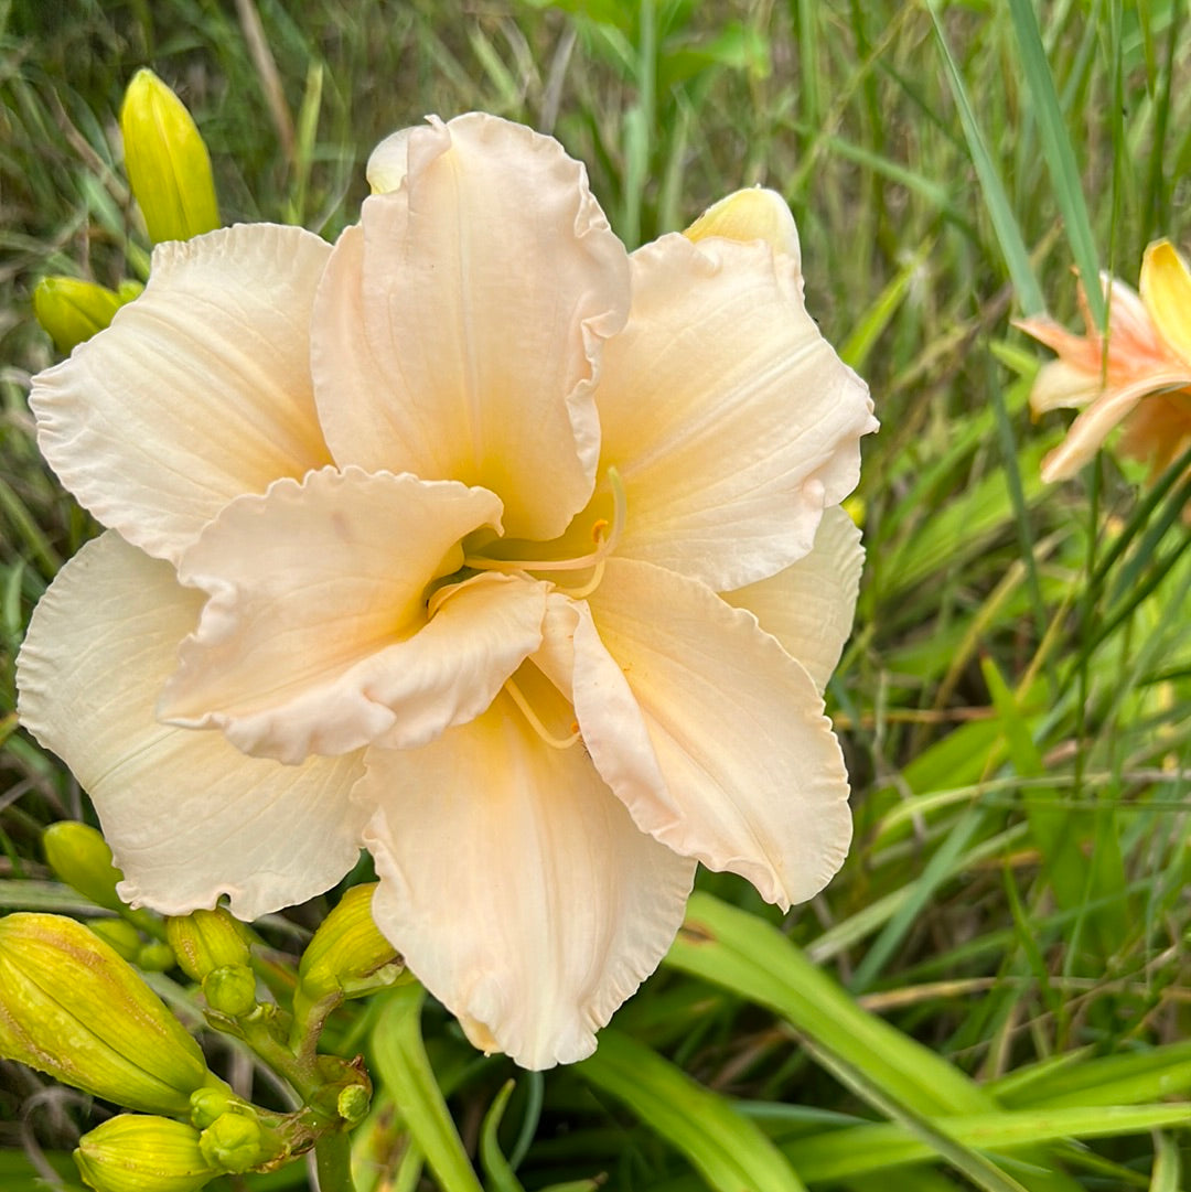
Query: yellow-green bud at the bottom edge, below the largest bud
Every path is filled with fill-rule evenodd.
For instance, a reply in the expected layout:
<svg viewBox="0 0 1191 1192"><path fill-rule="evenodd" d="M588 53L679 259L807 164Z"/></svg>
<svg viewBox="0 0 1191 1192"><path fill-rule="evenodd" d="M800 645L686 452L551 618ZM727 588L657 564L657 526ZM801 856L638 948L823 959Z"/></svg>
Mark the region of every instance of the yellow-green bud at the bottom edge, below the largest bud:
<svg viewBox="0 0 1191 1192"><path fill-rule="evenodd" d="M219 1174L193 1126L134 1113L85 1134L74 1161L97 1192L196 1192Z"/></svg>

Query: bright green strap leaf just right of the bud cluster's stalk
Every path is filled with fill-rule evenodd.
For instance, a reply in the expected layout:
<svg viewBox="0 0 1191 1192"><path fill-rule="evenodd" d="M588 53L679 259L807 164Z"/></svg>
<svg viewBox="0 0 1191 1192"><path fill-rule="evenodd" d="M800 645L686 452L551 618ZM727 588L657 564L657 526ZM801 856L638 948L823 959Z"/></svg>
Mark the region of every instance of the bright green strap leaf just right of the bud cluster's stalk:
<svg viewBox="0 0 1191 1192"><path fill-rule="evenodd" d="M372 1032L377 1074L443 1192L483 1192L422 1043L424 997L414 982L386 995Z"/></svg>

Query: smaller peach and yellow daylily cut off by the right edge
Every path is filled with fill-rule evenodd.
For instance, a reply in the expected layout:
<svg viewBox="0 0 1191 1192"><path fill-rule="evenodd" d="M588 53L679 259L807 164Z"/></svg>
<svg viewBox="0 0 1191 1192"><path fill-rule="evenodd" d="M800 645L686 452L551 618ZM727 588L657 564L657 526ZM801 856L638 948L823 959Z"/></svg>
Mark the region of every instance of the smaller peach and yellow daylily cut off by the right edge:
<svg viewBox="0 0 1191 1192"><path fill-rule="evenodd" d="M1080 287L1086 331L1075 335L1050 318L1017 325L1059 354L1042 366L1030 393L1036 414L1072 406L1083 412L1063 442L1042 461L1048 482L1074 476L1123 427L1119 449L1166 468L1191 443L1191 274L1168 241L1146 249L1140 296L1102 278L1109 300L1108 341Z"/></svg>

